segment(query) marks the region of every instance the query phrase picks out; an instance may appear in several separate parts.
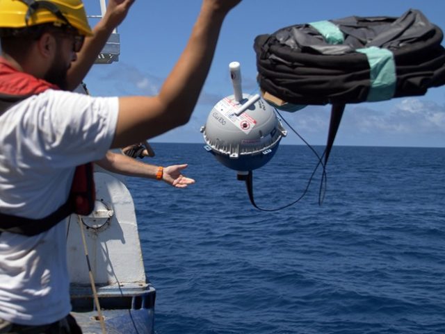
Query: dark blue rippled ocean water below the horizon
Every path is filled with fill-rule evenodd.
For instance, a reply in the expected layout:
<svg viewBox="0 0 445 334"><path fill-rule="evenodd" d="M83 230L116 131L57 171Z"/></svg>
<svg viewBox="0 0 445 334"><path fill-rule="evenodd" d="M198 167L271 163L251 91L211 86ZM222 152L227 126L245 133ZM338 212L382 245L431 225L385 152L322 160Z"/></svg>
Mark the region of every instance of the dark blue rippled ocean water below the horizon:
<svg viewBox="0 0 445 334"><path fill-rule="evenodd" d="M445 149L334 147L321 206L318 170L262 212L203 144L153 147L197 181L129 180L155 333L445 333ZM298 199L316 163L281 145L255 201Z"/></svg>

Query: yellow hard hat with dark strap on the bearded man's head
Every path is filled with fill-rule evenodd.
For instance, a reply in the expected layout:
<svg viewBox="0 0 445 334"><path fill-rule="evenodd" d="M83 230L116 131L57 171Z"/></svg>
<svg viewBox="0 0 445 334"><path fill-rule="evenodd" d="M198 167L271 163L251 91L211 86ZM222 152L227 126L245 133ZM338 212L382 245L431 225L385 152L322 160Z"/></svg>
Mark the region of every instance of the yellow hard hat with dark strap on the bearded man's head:
<svg viewBox="0 0 445 334"><path fill-rule="evenodd" d="M51 22L56 26L70 24L81 35L92 35L81 0L0 0L0 28Z"/></svg>

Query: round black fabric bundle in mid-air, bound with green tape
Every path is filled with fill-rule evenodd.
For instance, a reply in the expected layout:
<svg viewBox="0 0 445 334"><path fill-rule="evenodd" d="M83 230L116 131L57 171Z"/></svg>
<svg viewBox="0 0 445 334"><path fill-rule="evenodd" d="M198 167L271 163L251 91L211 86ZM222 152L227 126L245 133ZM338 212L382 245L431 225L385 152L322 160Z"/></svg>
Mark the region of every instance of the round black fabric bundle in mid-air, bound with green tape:
<svg viewBox="0 0 445 334"><path fill-rule="evenodd" d="M310 24L282 28L254 41L261 90L300 105L344 105L367 101L370 65L356 49L390 50L396 65L392 97L423 95L445 84L442 31L419 10L396 17L346 17L330 20L343 33L329 44Z"/></svg>

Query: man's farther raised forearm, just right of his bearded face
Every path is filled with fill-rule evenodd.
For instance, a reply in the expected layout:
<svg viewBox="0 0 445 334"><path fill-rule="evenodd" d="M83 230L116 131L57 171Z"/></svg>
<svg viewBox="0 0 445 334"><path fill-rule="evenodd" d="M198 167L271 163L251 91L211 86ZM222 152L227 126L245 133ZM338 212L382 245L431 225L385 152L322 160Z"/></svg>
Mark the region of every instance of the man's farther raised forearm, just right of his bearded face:
<svg viewBox="0 0 445 334"><path fill-rule="evenodd" d="M68 90L74 90L88 74L100 51L104 48L108 37L127 16L133 2L134 0L108 0L104 17L92 29L94 35L86 37L85 44L83 44L81 51L77 53L77 60L72 63L67 73Z"/></svg>

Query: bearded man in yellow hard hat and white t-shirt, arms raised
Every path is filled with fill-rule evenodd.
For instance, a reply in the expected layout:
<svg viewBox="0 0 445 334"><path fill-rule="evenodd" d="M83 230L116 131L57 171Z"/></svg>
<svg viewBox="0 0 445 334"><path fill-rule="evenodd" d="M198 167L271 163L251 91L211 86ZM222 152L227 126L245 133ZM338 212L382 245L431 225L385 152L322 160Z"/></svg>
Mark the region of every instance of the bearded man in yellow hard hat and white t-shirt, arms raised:
<svg viewBox="0 0 445 334"><path fill-rule="evenodd" d="M101 98L68 91L133 0L108 1L94 31L81 0L0 0L0 213L48 217L67 201L76 166L188 122L223 20L240 1L202 0L157 96ZM80 333L69 324L65 224L32 236L1 231L0 333Z"/></svg>

